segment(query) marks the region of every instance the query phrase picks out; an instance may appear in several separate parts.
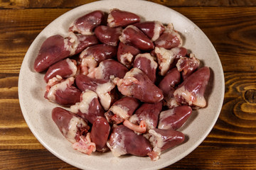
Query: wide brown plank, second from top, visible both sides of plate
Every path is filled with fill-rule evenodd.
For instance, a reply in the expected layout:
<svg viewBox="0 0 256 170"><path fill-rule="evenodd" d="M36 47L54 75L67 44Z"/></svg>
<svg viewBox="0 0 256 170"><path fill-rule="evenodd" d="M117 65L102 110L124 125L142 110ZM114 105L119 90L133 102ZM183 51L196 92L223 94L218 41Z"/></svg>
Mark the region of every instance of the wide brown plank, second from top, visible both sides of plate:
<svg viewBox="0 0 256 170"><path fill-rule="evenodd" d="M220 56L224 72L255 72L256 7L174 8L196 23ZM18 73L36 35L70 9L0 11L0 70ZM18 16L18 17L17 17Z"/></svg>

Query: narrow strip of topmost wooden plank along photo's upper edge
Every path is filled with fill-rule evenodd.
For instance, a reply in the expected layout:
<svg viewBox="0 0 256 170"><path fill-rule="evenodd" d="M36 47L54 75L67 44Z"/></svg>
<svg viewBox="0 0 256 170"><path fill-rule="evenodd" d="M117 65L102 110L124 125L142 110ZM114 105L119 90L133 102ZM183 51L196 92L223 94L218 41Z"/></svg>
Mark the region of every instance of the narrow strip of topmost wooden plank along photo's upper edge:
<svg viewBox="0 0 256 170"><path fill-rule="evenodd" d="M83 4L88 4L90 2L97 0L74 0L74 1L20 1L20 0L11 0L11 1L1 1L0 8L75 8ZM229 0L213 0L213 1L204 1L204 0L148 0L161 4L164 6L174 7L174 6L255 6L255 0L243 0L243 1L229 1Z"/></svg>

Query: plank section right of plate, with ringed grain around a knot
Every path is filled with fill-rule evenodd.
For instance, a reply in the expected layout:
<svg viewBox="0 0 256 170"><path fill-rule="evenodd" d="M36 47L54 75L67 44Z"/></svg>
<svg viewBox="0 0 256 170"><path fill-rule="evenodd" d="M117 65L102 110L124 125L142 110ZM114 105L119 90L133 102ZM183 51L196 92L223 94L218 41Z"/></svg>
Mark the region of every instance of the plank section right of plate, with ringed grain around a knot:
<svg viewBox="0 0 256 170"><path fill-rule="evenodd" d="M217 123L202 146L256 147L256 103L247 91L256 90L255 73L225 73L225 98Z"/></svg>

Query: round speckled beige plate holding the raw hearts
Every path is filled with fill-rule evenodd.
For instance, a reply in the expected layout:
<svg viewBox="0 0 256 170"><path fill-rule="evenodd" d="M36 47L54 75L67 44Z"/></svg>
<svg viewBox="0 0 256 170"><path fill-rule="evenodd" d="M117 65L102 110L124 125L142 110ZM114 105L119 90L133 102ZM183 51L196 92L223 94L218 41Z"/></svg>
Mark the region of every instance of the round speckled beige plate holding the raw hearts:
<svg viewBox="0 0 256 170"><path fill-rule="evenodd" d="M33 62L46 38L55 34L68 35L67 30L75 18L96 9L109 12L111 8L137 13L142 21L174 23L174 28L183 36L184 47L191 50L203 65L210 67L210 82L206 92L207 108L194 112L188 122L179 129L186 135L186 142L164 152L156 162L151 162L149 157L113 157L111 152L87 156L74 150L51 119L51 110L57 105L43 98L46 86L44 75L33 71ZM18 79L18 97L23 116L33 135L46 149L68 164L80 169L161 169L186 157L203 142L218 119L223 104L224 86L223 68L217 52L202 30L188 18L149 1L112 0L97 1L74 8L43 29L24 57Z"/></svg>

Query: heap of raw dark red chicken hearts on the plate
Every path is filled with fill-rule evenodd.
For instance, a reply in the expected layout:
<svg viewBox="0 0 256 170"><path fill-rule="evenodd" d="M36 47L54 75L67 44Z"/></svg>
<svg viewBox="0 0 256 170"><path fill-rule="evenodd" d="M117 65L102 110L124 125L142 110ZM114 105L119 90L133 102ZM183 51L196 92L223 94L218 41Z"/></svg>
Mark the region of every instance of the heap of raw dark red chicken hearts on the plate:
<svg viewBox="0 0 256 170"><path fill-rule="evenodd" d="M177 131L206 107L208 67L182 47L174 26L117 8L77 18L67 37L47 38L34 62L46 73L52 118L74 149L159 159Z"/></svg>

